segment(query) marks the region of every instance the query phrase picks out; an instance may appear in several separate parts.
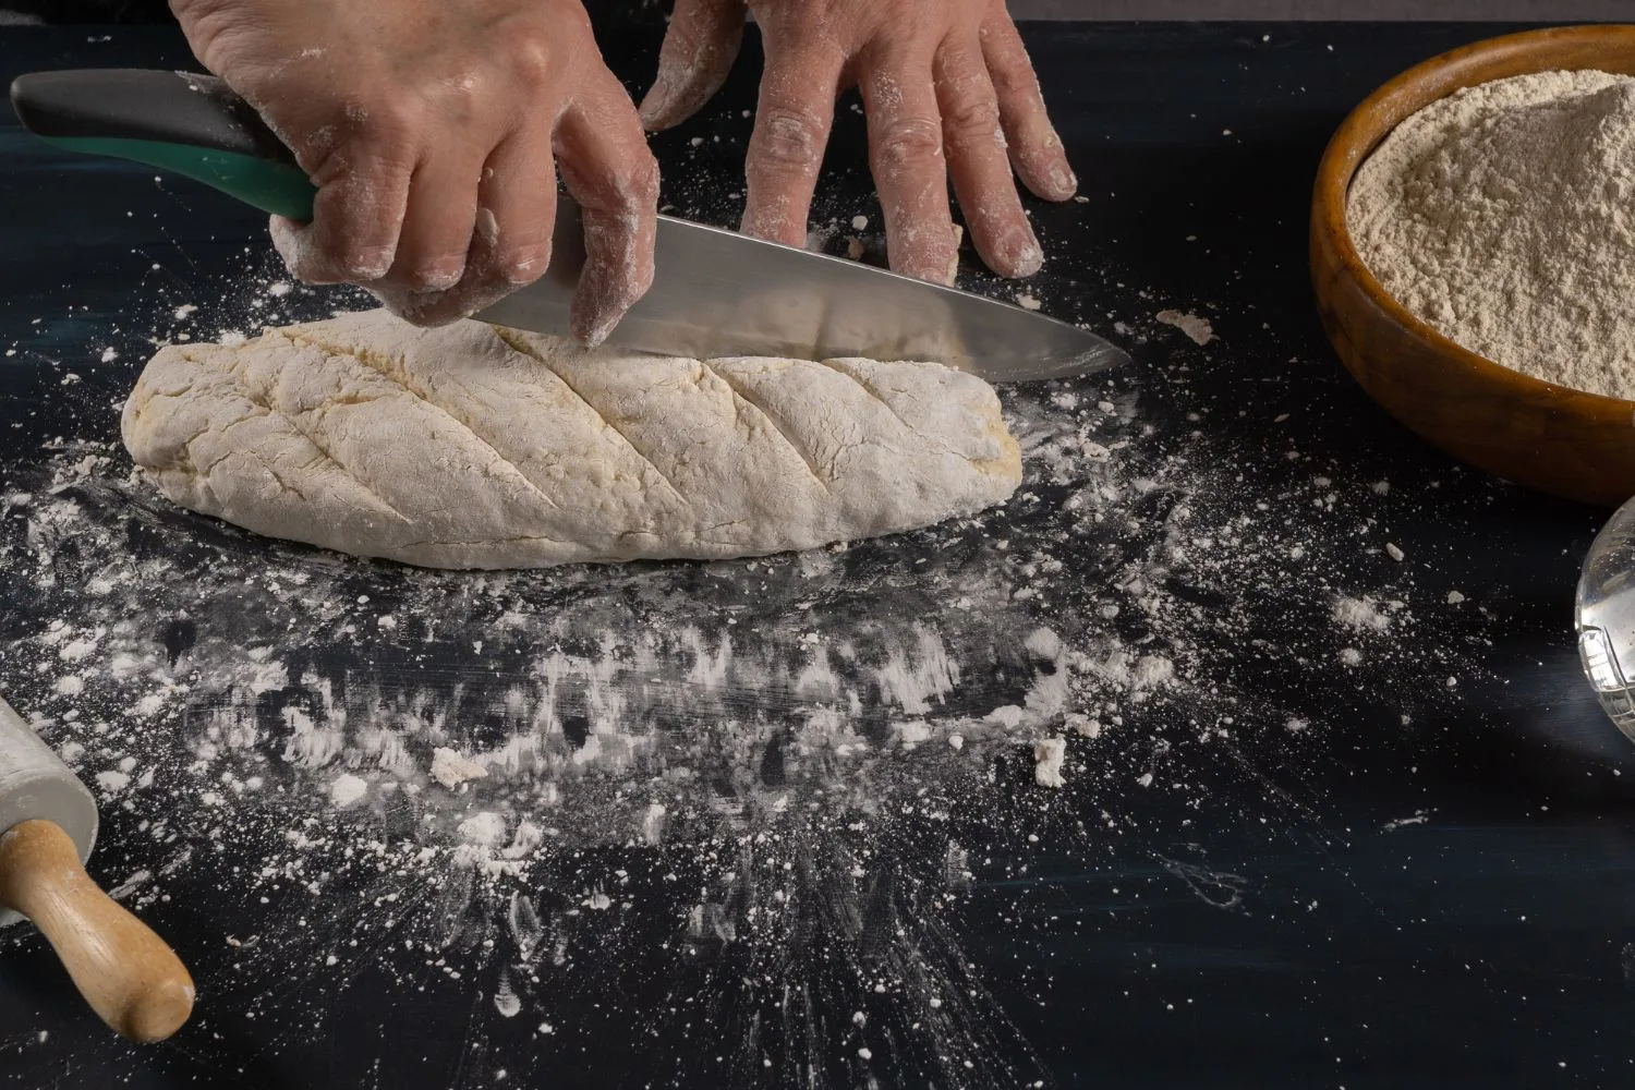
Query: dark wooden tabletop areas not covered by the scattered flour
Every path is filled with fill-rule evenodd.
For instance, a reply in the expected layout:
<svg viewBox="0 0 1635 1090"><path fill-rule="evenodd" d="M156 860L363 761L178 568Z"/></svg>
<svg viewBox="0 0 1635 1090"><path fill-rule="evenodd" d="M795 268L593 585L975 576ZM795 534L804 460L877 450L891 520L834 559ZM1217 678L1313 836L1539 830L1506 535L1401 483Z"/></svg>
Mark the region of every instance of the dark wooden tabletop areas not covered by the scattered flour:
<svg viewBox="0 0 1635 1090"><path fill-rule="evenodd" d="M634 85L652 62L654 26L603 29ZM973 879L914 931L916 956L940 958L963 982L958 1020L932 1031L927 1012L852 972L889 948L871 946L870 912L857 949L788 936L788 949L804 951L800 976L793 954L772 956L780 946L688 943L688 894L665 900L662 882L602 961L536 969L546 1016L495 1013L481 948L440 951L471 966L459 979L425 969L425 949L387 941L347 954L337 974L286 977L276 948L247 961L224 936L286 941L296 915L304 927L320 914L347 928L350 902L239 896L232 868L257 860L226 850L178 871L167 899L144 907L203 985L198 1020L170 1044L110 1039L38 938L21 928L0 938L0 1085L1627 1085L1635 753L1586 691L1570 631L1601 515L1460 471L1400 430L1328 351L1305 279L1308 186L1344 113L1409 64L1499 29L1028 28L1089 198L1035 208L1051 257L1037 293L1069 317L1136 325L1151 425L1143 456L1236 466L1246 513L1313 472L1352 492L1390 479L1391 494L1357 520L1408 554L1413 574L1401 579L1418 605L1416 628L1382 655L1390 665L1354 681L1333 649L1252 650L1262 636L1283 646L1290 626L1323 629L1324 618L1280 613L1270 585L1215 588L1202 608L1239 610L1249 628L1220 649L1208 685L1267 729L1203 745L1198 717L1220 726L1220 701L1131 708L1143 737L1167 739L1161 758L1146 744L1076 740L1074 760L1130 771L1079 775L1043 806L1032 763L997 760L989 809L956 822ZM747 60L705 118L656 141L667 199L687 214L732 217L741 111L754 101ZM0 33L7 78L186 62L164 28ZM821 216L867 204L860 141L860 119L842 114ZM15 489L47 458L43 443L113 438L108 405L129 387L144 337L164 332L168 307L211 299L245 260L265 261L265 247L253 214L186 183L70 162L7 126L0 154L0 345L18 348L0 360L0 477ZM155 265L164 275L147 278ZM1208 314L1221 343L1194 351L1153 325L1164 306ZM118 346L118 361L93 366L95 345ZM70 392L65 369L83 379ZM1359 533L1349 516L1290 518L1306 520L1318 546ZM52 596L25 587L26 526L15 516L0 526L0 577L11 580L0 647L20 647L54 616ZM183 544L203 533L186 526L196 523L170 526L173 547L217 547ZM118 547L160 547L137 529ZM1360 546L1357 556L1359 569L1396 579L1390 561ZM1295 588L1315 579L1300 564L1275 575ZM564 587L553 593L567 608L576 592ZM1450 590L1473 608L1432 608ZM150 624L173 655L193 639L165 618ZM1455 673L1457 688L1439 693ZM46 699L16 655L0 660L0 686L18 703ZM1298 745L1279 729L1297 713L1311 730ZM1154 789L1136 786L1143 766L1158 770ZM98 876L121 881L168 858L139 832L144 817L154 815L105 809ZM929 840L909 832L880 840L870 863L885 874L870 904L896 912L881 918L899 930L932 918L916 891L943 866L943 842L927 856ZM636 873L644 858L639 847L610 848L595 864ZM291 941L288 958L314 949ZM775 987L785 971L798 1002ZM867 1062L855 1012L878 1030Z"/></svg>

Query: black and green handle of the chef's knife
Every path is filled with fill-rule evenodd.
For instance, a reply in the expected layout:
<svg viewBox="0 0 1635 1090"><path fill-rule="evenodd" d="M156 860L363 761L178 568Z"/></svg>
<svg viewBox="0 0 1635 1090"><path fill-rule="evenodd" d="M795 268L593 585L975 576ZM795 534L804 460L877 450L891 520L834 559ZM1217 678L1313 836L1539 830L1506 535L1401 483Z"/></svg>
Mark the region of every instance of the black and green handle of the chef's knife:
<svg viewBox="0 0 1635 1090"><path fill-rule="evenodd" d="M34 72L11 83L29 132L70 150L129 159L245 204L312 219L317 190L260 114L213 75L146 69Z"/></svg>

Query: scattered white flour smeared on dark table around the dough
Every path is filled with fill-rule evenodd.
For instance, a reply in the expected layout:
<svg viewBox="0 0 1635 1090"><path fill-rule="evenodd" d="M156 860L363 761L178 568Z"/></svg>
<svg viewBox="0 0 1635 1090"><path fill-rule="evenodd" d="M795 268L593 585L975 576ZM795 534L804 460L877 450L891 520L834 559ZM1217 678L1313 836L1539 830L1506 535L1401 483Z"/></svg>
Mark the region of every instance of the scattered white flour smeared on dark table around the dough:
<svg viewBox="0 0 1635 1090"><path fill-rule="evenodd" d="M245 328L317 299L263 284ZM1171 395L1221 363L1226 342L1117 320L1164 346ZM92 404L108 441L29 453L0 492L0 677L98 793L96 866L129 905L257 922L193 967L216 1018L288 1026L275 1052L384 974L469 1012L479 1080L543 1079L607 1025L662 1065L703 1020L731 1085L831 1061L845 1085L1043 1085L966 949L996 927L971 914L1048 961L1120 927L1033 884L1063 868L1107 876L1113 904L1282 912L1212 830L1323 843L1303 780L1359 703L1418 722L1457 699L1444 680L1473 678L1476 647L1439 616L1483 610L1388 554L1436 482L1362 479L1279 440L1274 413L1251 472L1215 435L1252 405L1159 428L1140 382L1002 391L1024 482L974 518L505 574L180 511L113 441L118 407Z"/></svg>

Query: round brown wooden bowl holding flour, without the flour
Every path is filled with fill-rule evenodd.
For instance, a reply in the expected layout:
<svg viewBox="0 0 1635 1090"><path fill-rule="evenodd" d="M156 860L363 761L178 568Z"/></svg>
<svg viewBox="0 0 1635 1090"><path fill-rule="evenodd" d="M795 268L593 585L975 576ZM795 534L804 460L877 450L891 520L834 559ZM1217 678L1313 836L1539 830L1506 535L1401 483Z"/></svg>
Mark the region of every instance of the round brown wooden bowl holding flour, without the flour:
<svg viewBox="0 0 1635 1090"><path fill-rule="evenodd" d="M1375 92L1323 155L1311 278L1346 369L1386 412L1507 480L1615 507L1635 495L1635 402L1542 382L1460 348L1385 291L1346 227L1352 176L1398 124L1458 88L1558 69L1635 75L1635 26L1494 38L1426 60Z"/></svg>

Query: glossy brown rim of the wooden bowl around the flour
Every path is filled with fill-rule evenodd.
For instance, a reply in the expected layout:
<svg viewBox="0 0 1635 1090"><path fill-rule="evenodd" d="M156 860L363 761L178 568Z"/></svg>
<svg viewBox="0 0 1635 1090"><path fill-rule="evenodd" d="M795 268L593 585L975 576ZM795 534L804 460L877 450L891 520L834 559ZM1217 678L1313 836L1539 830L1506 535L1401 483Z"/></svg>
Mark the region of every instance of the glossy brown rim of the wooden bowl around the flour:
<svg viewBox="0 0 1635 1090"><path fill-rule="evenodd" d="M1635 25L1558 26L1488 38L1431 57L1395 77L1351 111L1324 150L1316 185L1321 212L1318 230L1328 235L1346 275L1360 284L1364 294L1393 322L1436 353L1472 371L1480 381L1507 386L1517 394L1557 409L1628 423L1635 418L1635 400L1591 394L1512 371L1462 346L1411 312L1368 270L1352 242L1347 222L1351 183L1357 172L1411 116L1458 90L1506 75L1596 69L1592 54L1597 51L1624 54L1627 74L1635 75Z"/></svg>

